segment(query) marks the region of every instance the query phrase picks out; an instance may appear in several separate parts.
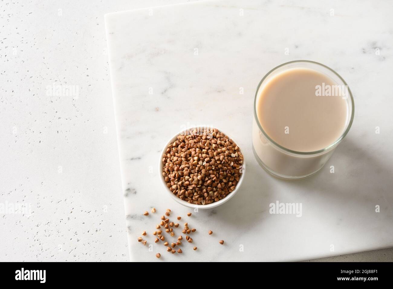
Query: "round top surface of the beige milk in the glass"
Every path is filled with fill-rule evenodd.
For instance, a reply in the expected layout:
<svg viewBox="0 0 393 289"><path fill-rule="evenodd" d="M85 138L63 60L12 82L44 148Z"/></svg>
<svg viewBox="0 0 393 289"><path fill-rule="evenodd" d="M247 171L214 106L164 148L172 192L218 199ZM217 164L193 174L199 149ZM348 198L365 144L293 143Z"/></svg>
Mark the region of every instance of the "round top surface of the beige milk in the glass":
<svg viewBox="0 0 393 289"><path fill-rule="evenodd" d="M336 83L309 68L281 72L263 88L257 116L277 144L293 151L318 151L335 142L345 129L347 102L341 96L316 96L316 86Z"/></svg>

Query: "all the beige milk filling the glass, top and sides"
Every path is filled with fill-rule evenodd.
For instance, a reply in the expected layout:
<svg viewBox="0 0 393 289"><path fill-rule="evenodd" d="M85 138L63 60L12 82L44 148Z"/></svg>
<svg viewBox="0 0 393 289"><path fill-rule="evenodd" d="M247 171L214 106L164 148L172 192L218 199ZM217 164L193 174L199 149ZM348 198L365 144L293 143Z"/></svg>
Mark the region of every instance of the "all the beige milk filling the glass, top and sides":
<svg viewBox="0 0 393 289"><path fill-rule="evenodd" d="M258 121L266 134L286 149L297 152L324 149L340 138L347 124L347 94L337 90L337 86L331 77L310 68L279 72L257 92ZM333 152L313 156L285 153L266 140L255 120L253 146L265 166L287 176L318 171Z"/></svg>

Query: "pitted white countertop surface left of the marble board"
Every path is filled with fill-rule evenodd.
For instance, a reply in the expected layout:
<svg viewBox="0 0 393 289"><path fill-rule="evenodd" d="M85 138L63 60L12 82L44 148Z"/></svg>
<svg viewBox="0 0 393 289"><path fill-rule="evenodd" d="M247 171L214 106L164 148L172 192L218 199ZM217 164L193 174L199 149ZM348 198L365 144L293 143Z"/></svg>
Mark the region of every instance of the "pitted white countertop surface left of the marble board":
<svg viewBox="0 0 393 289"><path fill-rule="evenodd" d="M0 261L129 260L104 14L173 2L0 2Z"/></svg>

